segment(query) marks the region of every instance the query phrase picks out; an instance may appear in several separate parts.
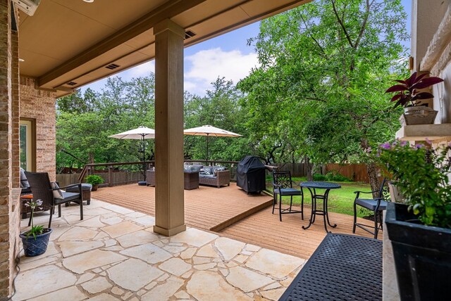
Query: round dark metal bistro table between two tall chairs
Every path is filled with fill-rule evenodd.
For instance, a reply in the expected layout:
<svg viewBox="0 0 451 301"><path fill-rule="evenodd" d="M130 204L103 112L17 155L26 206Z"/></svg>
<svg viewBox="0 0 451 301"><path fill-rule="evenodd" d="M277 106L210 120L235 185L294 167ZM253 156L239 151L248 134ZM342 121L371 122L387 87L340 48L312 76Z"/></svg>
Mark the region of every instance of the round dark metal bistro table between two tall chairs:
<svg viewBox="0 0 451 301"><path fill-rule="evenodd" d="M308 188L311 194L311 215L309 220L308 226L302 226L302 229L306 230L309 229L311 224L315 222L316 214L322 215L324 219L324 229L326 229L326 232L330 232L327 230L327 225L331 226L332 228L335 228L337 224L331 225L329 222L329 215L328 215L328 209L327 209L327 202L328 202L328 196L330 189L337 189L341 188L340 184L330 183L330 182L321 182L321 181L308 181L308 182L301 182L299 184L302 187ZM325 189L324 194L316 193L316 189ZM313 190L313 191L312 191ZM323 200L323 210L316 209L316 200ZM327 221L327 224L326 224Z"/></svg>

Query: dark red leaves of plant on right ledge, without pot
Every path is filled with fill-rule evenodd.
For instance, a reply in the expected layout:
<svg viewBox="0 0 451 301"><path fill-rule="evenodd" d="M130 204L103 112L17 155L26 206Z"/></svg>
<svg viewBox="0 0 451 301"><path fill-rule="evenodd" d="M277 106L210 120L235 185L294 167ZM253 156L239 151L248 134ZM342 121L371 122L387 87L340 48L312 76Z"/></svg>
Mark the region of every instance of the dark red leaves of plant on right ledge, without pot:
<svg viewBox="0 0 451 301"><path fill-rule="evenodd" d="M426 77L426 75L427 74L425 73L417 76L417 73L414 72L406 80L395 80L395 82L399 82L400 84L395 84L385 91L385 93L397 92L397 94L395 94L395 96L393 96L390 100L396 101L395 108L398 105L402 105L403 107L414 107L416 105L421 105L421 102L419 102L421 99L429 99L434 97L429 92L419 92L419 90L426 89L434 84L443 82L443 79L440 77Z"/></svg>

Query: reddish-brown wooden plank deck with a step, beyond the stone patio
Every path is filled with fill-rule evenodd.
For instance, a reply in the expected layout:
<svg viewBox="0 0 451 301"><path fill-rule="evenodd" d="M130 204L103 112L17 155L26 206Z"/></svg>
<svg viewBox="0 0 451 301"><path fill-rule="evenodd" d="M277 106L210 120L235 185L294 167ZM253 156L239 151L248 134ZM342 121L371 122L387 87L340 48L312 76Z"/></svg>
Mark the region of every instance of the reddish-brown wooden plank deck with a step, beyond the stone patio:
<svg viewBox="0 0 451 301"><path fill-rule="evenodd" d="M154 187L137 184L100 188L92 192L92 198L152 216L155 214L154 197ZM300 214L285 214L283 222L279 222L278 214L271 214L270 196L263 193L261 196L247 195L234 183L223 188L200 186L192 191L185 190L185 222L188 226L218 231L221 236L308 259L326 236L326 231L320 216L309 229L301 228L309 223L308 198L306 203L303 221ZM352 234L352 216L330 212L329 218L331 224L338 224L335 229L329 228L330 231ZM364 219L359 219L359 222L371 224ZM371 237L358 228L356 234Z"/></svg>

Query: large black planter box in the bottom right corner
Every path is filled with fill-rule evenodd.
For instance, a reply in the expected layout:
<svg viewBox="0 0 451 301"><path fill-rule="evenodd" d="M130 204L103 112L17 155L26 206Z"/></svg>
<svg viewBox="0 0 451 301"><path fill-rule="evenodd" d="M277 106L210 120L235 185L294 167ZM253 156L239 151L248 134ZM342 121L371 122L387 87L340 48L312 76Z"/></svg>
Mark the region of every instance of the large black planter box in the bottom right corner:
<svg viewBox="0 0 451 301"><path fill-rule="evenodd" d="M451 229L419 224L407 205L385 215L401 300L451 300Z"/></svg>

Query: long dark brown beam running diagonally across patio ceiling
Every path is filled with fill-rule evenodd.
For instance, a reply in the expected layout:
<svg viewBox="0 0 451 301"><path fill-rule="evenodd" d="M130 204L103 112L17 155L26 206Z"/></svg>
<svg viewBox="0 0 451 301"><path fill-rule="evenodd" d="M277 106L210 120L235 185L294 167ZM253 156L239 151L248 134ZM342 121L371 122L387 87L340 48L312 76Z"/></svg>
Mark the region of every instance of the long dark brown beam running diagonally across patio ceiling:
<svg viewBox="0 0 451 301"><path fill-rule="evenodd" d="M42 87L49 82L61 77L70 70L78 68L80 65L88 63L90 60L101 56L102 54L110 51L111 49L120 46L121 44L129 41L130 39L137 37L137 35L146 32L154 27L156 23L161 22L164 19L173 18L175 15L179 15L188 9L197 6L206 0L171 0L157 7L154 11L143 15L141 18L123 27L118 32L111 34L99 43L95 44L89 49L78 53L77 56L66 60L58 67L47 72L37 79L37 84ZM63 84L59 83L58 85ZM53 87L52 87L53 88Z"/></svg>

